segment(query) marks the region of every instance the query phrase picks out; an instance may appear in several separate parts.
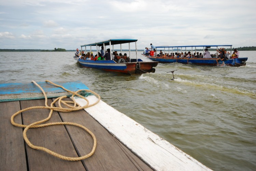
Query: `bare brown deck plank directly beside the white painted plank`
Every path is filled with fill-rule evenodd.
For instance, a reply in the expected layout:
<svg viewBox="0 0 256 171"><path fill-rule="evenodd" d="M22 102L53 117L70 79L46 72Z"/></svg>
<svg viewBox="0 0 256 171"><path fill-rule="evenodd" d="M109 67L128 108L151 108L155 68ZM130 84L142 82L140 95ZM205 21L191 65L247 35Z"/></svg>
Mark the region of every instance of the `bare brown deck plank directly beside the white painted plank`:
<svg viewBox="0 0 256 171"><path fill-rule="evenodd" d="M81 124L91 130L97 138L95 153L82 161L87 170L152 170L84 110L59 113L63 122ZM67 126L67 130L80 155L86 155L91 151L93 139L88 133L82 133L71 126Z"/></svg>

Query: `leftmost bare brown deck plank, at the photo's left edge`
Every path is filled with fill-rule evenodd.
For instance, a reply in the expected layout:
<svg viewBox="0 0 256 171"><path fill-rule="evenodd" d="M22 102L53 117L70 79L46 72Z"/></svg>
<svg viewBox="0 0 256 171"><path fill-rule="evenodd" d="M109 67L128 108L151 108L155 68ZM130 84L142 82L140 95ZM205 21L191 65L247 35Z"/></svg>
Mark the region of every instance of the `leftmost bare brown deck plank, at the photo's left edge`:
<svg viewBox="0 0 256 171"><path fill-rule="evenodd" d="M11 124L11 116L20 110L19 101L0 103L0 170L27 170L23 129ZM21 116L15 118L22 124Z"/></svg>

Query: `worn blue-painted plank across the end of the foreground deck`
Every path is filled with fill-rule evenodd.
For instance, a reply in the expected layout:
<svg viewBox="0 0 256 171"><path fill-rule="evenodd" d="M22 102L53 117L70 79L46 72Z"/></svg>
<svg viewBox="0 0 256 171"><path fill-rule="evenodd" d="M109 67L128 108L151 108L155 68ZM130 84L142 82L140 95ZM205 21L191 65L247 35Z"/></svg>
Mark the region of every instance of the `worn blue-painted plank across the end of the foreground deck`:
<svg viewBox="0 0 256 171"><path fill-rule="evenodd" d="M80 81L75 82L55 82L70 91L77 91L79 89L89 89ZM47 98L57 98L59 96L71 96L72 94L56 87L47 82L38 82L44 89ZM0 102L4 101L18 101L18 100L32 100L44 99L41 89L34 83L6 83L0 84Z"/></svg>

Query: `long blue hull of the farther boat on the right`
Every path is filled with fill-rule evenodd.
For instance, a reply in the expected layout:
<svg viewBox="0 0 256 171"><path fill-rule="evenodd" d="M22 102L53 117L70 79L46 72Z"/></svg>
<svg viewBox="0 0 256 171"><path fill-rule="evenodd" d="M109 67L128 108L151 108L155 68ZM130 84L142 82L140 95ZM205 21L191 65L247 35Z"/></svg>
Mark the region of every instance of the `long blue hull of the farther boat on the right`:
<svg viewBox="0 0 256 171"><path fill-rule="evenodd" d="M144 55L146 56L146 55ZM147 58L158 61L161 63L194 63L197 65L208 65L208 66L216 66L219 63L222 63L221 60L216 61L216 58L169 58L169 57L154 57L154 56L146 56ZM227 59L224 63L228 66L238 67L238 66L245 66L246 61L248 58L236 58L236 59Z"/></svg>

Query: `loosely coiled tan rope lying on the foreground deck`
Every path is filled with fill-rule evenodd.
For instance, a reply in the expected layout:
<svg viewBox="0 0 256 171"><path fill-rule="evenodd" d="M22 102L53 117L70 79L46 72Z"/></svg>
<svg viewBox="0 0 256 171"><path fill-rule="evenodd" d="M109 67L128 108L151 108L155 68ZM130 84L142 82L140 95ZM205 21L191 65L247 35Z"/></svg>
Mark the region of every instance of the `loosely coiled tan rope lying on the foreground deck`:
<svg viewBox="0 0 256 171"><path fill-rule="evenodd" d="M93 105L97 104L97 103L100 101L100 96L99 96L97 93L95 93L95 92L93 92L93 91L91 91L91 90L81 89L81 90L77 90L77 91L74 92L74 91L70 91L70 90L64 88L63 86L57 85L57 84L55 84L55 83L53 83L53 82L51 82L51 81L45 80L45 82L51 83L51 84L53 84L53 85L55 85L55 86L57 86L57 87L62 88L63 90L65 90L65 91L67 91L67 92L72 93L73 95L71 96L71 99L72 99L73 101L63 101L62 99L63 99L63 98L67 98L67 96L61 96L61 97L58 97L56 100L54 100L54 101L51 103L51 106L48 106L48 105L47 105L47 96L46 96L46 94L45 94L43 88L42 88L41 86L39 86L36 82L32 81L32 83L34 83L35 85L37 85L37 86L41 89L41 91L43 92L43 95L44 95L44 98L45 98L45 106L33 106L33 107L29 107L29 108L26 108L26 109L23 109L23 110L20 110L20 111L16 112L16 113L13 114L12 117L11 117L11 123L12 123L12 125L14 125L14 126L16 126L16 127L25 128L24 131L23 131L23 138L24 138L24 140L26 141L26 143L28 144L28 146L30 146L31 148L39 149L39 150L45 151L46 153L49 153L49 154L51 154L51 155L53 155L53 156L55 156L55 157L61 158L61 159L63 159L63 160L69 160L69 161L83 160L83 159L86 159L86 158L90 157L90 156L93 155L94 152L95 152L97 141L96 141L96 137L94 136L94 134L93 134L89 129L87 129L87 128L84 127L83 125L76 124L76 123L71 123L71 122L56 122L56 123L47 123L47 124L41 124L41 123L46 122L47 120L49 120L49 119L51 118L51 116L52 116L53 111L57 111L57 112L72 112L72 111L78 111L78 110L81 110L81 109L84 109L84 108L88 108L88 107L90 107L90 106L93 106ZM97 100L95 103L89 105L89 101L88 101L85 97L83 97L82 95L78 94L79 91L87 91L87 92L90 92L90 93L94 94L94 95L98 98L98 100ZM79 104L77 104L76 101L74 100L74 96L78 96L78 97L81 97L81 98L83 98L84 100L86 100L86 101L87 101L86 105L80 106ZM57 101L58 101L59 107L54 107L53 105L54 105L54 103L57 102ZM64 105L66 105L66 106L69 107L69 108L62 108L61 103L64 104ZM68 103L72 103L72 104L74 104L74 105L71 106L71 105L69 105ZM48 115L47 118L45 118L45 119L43 119L43 120L40 120L40 121L37 121L37 122L34 122L34 123L30 124L30 125L22 125L22 124L17 124L17 123L14 122L14 117L15 117L15 116L17 116L19 113L22 113L22 112L24 112L24 111L28 111L28 110L31 110L31 109L49 109L49 110L51 110L51 111L49 112L49 115ZM41 124L41 125L40 125L40 124ZM87 154L87 155L85 155L85 156L81 156L81 157L66 157L66 156L62 156L62 155L60 155L60 154L58 154L58 153L55 153L55 152L49 150L48 148L40 147L40 146L35 146L35 145L33 145L33 144L28 140L26 133L27 133L27 131L28 131L29 128L41 128L41 127L53 126L53 125L73 125L73 126L77 126L77 127L80 127L80 128L82 128L82 129L84 129L84 130L87 131L87 132L91 135L91 137L93 138L93 141L94 141L93 149L91 150L91 152L90 152L89 154Z"/></svg>

